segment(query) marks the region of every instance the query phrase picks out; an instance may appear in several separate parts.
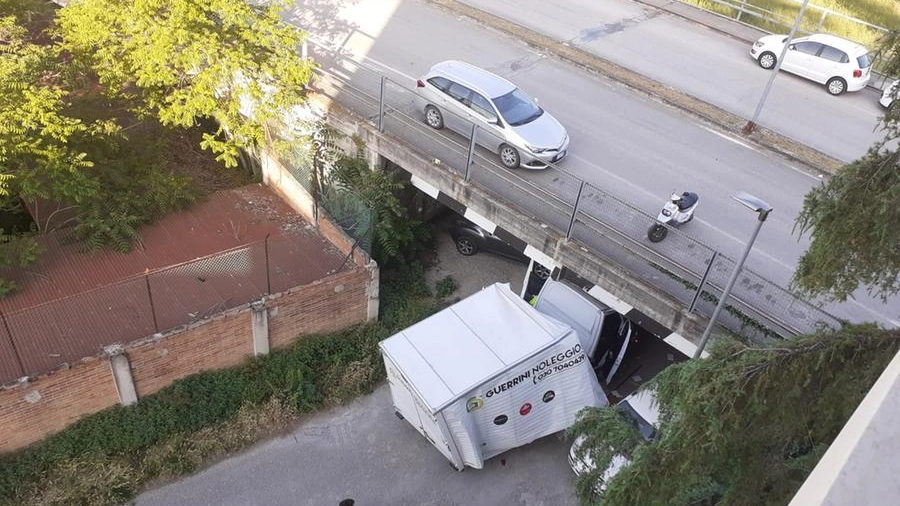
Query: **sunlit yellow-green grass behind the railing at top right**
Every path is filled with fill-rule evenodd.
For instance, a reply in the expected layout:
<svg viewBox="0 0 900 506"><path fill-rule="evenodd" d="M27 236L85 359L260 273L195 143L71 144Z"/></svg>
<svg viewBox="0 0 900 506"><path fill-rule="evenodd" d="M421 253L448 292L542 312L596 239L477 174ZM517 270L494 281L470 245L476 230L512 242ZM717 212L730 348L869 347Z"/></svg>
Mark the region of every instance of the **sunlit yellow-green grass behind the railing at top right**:
<svg viewBox="0 0 900 506"><path fill-rule="evenodd" d="M737 19L739 11L731 5L740 6L744 3L743 0L681 1L732 19ZM855 40L873 50L877 46L878 38L882 35L881 32L832 14L827 14L823 18L824 11L821 8L830 9L884 28L900 26L900 3L896 0L812 0L803 15L801 31L831 33ZM768 32L788 33L800 10L800 2L794 0L747 0L744 10L754 12L758 16L744 13L740 16L740 21Z"/></svg>

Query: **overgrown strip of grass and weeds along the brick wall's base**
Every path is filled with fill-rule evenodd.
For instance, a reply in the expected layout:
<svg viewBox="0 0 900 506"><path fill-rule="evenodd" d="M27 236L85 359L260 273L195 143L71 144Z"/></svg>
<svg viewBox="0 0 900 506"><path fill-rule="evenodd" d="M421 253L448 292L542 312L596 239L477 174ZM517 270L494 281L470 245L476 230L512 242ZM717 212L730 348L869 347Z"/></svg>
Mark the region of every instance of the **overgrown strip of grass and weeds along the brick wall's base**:
<svg viewBox="0 0 900 506"><path fill-rule="evenodd" d="M385 375L378 342L444 304L429 291L420 264L383 272L377 323L190 376L0 456L0 505L119 504L148 484L284 431L305 414L369 393Z"/></svg>

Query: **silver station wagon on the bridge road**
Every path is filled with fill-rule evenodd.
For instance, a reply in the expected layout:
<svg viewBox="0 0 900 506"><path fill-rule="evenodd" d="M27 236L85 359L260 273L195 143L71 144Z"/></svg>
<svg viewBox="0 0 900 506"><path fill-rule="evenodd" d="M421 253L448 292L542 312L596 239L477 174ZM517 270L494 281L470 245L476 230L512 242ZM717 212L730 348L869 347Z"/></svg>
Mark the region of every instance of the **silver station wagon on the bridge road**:
<svg viewBox="0 0 900 506"><path fill-rule="evenodd" d="M461 61L445 61L416 82L418 106L435 129L448 127L500 155L504 167L542 169L566 156L569 134L514 84Z"/></svg>

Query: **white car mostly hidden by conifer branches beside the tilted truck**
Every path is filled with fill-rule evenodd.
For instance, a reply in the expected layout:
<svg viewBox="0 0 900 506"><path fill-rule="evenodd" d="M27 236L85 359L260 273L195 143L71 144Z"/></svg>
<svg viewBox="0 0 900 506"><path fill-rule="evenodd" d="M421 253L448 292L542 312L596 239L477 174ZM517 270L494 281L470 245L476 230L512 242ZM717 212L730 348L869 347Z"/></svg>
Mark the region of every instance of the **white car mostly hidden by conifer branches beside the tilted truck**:
<svg viewBox="0 0 900 506"><path fill-rule="evenodd" d="M656 438L656 429L659 424L659 407L656 404L656 396L652 390L639 390L621 402L616 404L618 409L629 423L641 433L645 441L652 441ZM584 442L584 436L578 436L569 449L569 465L576 475L593 471L596 466L590 455L578 456L579 448ZM594 493L600 495L606 490L606 484L613 476L617 475L629 463L628 457L624 455L615 455L609 466L597 480L594 486Z"/></svg>

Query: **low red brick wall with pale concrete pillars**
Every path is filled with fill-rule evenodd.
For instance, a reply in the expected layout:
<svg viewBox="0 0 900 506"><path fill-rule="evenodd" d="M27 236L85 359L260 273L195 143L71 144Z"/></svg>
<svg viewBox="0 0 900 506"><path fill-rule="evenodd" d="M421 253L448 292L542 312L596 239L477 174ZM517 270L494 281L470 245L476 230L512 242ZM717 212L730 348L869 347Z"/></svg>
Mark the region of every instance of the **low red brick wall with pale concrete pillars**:
<svg viewBox="0 0 900 506"><path fill-rule="evenodd" d="M377 293L378 278L372 274L371 265L359 265L4 387L0 453L36 442L85 415L127 404L128 392L140 399L180 378L239 364L303 335L365 322L370 293Z"/></svg>

